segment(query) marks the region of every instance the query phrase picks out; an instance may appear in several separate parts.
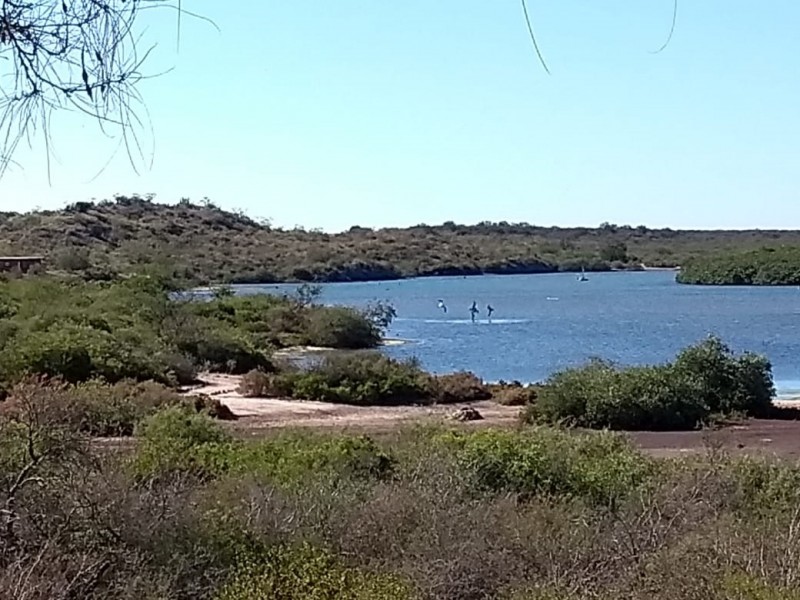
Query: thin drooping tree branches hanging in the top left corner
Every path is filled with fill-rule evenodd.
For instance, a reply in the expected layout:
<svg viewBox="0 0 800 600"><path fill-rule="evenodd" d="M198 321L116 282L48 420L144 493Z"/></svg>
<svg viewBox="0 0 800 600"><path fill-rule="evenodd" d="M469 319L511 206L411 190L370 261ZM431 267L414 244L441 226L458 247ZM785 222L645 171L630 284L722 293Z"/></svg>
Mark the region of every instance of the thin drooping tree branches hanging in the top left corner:
<svg viewBox="0 0 800 600"><path fill-rule="evenodd" d="M0 176L20 141L73 109L114 132L135 168L143 126L136 90L152 48L135 32L143 10L181 0L0 0ZM48 144L49 147L49 144Z"/></svg>

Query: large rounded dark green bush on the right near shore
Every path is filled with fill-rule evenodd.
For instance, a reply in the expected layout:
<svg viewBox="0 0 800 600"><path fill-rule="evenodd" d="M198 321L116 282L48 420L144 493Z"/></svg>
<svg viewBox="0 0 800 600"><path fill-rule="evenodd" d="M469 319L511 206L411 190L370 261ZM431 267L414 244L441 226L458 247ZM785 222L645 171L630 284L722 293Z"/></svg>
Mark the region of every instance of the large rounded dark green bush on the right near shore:
<svg viewBox="0 0 800 600"><path fill-rule="evenodd" d="M526 418L593 428L692 429L717 414L764 416L774 394L765 358L734 356L710 338L666 365L617 368L594 361L556 373Z"/></svg>

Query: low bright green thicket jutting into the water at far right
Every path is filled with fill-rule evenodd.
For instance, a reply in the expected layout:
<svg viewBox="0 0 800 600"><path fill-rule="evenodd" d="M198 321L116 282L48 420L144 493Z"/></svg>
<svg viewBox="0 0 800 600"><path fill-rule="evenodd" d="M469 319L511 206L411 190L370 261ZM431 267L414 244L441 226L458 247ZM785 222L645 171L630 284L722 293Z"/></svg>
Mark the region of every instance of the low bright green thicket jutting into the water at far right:
<svg viewBox="0 0 800 600"><path fill-rule="evenodd" d="M686 262L678 281L703 285L800 285L800 247L766 247L696 257Z"/></svg>

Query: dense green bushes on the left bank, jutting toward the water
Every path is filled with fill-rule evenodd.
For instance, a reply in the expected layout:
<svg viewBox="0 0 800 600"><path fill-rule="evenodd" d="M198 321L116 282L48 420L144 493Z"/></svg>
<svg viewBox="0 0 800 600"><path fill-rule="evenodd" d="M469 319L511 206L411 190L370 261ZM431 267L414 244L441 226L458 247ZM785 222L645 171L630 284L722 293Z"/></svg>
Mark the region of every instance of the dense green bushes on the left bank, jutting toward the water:
<svg viewBox="0 0 800 600"><path fill-rule="evenodd" d="M369 348L388 324L374 307L324 307L313 296L199 301L173 291L170 280L156 276L0 281L0 387L28 374L176 385L192 382L197 369L271 370L273 348Z"/></svg>

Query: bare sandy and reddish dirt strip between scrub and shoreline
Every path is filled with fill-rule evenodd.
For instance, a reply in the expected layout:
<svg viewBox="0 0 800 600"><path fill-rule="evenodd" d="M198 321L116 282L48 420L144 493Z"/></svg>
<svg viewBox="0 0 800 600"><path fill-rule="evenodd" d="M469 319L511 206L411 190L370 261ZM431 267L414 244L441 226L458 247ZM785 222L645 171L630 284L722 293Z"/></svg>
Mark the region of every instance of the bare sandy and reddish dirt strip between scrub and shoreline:
<svg viewBox="0 0 800 600"><path fill-rule="evenodd" d="M483 417L465 427L514 427L519 408L492 401L447 406L361 407L281 398L245 398L236 391L239 377L205 374L203 385L187 390L226 404L239 417L233 427L242 435L259 436L283 427L337 428L370 432L390 431L420 423L453 423L459 408L470 406ZM797 401L791 402L796 404ZM732 453L776 454L800 458L800 421L750 420L715 431L632 432L642 450L657 456L705 452L709 448Z"/></svg>

